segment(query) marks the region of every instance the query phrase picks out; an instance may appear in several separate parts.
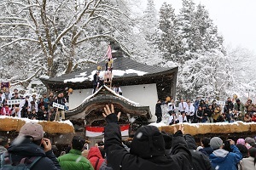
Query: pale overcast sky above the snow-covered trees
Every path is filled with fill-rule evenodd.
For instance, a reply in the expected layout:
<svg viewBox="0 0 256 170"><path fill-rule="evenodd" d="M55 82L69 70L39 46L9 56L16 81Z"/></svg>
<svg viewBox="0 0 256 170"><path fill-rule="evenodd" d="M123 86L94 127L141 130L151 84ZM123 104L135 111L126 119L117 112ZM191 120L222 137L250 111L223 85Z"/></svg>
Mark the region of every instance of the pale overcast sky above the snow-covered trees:
<svg viewBox="0 0 256 170"><path fill-rule="evenodd" d="M143 0L147 2L147 0ZM162 3L172 4L176 13L182 0L154 0L156 8ZM194 0L206 6L218 32L224 37L224 45L248 48L256 53L256 0Z"/></svg>

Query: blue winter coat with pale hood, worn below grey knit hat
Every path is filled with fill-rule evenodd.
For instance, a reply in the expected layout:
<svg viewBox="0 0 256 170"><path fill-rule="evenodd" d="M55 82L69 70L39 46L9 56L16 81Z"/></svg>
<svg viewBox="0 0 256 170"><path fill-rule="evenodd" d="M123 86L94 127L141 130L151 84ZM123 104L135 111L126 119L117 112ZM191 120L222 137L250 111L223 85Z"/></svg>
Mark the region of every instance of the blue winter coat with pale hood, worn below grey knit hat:
<svg viewBox="0 0 256 170"><path fill-rule="evenodd" d="M241 152L234 144L230 145L230 149L232 152L223 149L214 150L212 152L209 158L210 161L212 161L213 169L218 167L218 170L236 170L236 165L242 158Z"/></svg>

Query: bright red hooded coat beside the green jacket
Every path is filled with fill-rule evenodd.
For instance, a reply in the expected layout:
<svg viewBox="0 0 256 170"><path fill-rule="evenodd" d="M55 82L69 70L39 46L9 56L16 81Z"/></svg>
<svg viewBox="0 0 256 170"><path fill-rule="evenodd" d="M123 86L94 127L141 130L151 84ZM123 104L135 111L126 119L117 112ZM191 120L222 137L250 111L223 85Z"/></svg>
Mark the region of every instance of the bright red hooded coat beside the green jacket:
<svg viewBox="0 0 256 170"><path fill-rule="evenodd" d="M100 167L102 166L102 163L105 161L105 159L102 158L101 151L96 146L90 148L87 158L95 170L99 170ZM98 164L96 166L97 161L98 161Z"/></svg>

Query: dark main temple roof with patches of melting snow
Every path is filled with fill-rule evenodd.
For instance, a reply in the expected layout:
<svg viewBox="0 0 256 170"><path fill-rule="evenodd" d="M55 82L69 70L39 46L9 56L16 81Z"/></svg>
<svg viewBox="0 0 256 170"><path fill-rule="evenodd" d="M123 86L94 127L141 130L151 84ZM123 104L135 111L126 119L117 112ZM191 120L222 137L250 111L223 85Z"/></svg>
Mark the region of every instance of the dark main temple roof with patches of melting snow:
<svg viewBox="0 0 256 170"><path fill-rule="evenodd" d="M84 81L91 81L92 78L92 72L96 71L97 65L102 66L102 70L105 69L105 61L100 62L99 64L92 65L90 68L84 69L82 71L75 71L73 73L69 73L66 75L62 75L61 77L51 77L47 82L73 82L72 80L67 81L69 79L73 78L80 78L84 77ZM138 63L137 61L125 57L118 57L113 59L113 77L114 78L119 78L119 77L137 77L137 71L143 71L146 72L144 75L151 75L155 73L160 73L163 71L170 71L173 68L164 68L164 67L158 67L158 66L153 66L153 65L145 65L143 63ZM114 70L119 70L119 71L126 71L126 73L122 76L117 76L114 73ZM127 73L127 70L135 70L131 71L131 73ZM89 78L90 77L90 78ZM81 81L80 81L81 82Z"/></svg>

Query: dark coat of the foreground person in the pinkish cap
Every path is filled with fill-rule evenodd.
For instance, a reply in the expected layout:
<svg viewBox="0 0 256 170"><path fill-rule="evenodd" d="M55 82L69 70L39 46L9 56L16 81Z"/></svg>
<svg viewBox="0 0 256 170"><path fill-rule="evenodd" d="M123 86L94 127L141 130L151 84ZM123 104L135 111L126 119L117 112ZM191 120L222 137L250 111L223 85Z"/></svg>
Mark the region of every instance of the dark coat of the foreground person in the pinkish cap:
<svg viewBox="0 0 256 170"><path fill-rule="evenodd" d="M18 137L7 150L12 157L12 161L20 162L24 157L42 156L42 158L34 164L32 170L61 169L52 150L44 152L39 145L32 143L31 139L22 140Z"/></svg>

